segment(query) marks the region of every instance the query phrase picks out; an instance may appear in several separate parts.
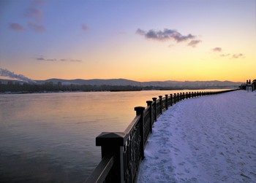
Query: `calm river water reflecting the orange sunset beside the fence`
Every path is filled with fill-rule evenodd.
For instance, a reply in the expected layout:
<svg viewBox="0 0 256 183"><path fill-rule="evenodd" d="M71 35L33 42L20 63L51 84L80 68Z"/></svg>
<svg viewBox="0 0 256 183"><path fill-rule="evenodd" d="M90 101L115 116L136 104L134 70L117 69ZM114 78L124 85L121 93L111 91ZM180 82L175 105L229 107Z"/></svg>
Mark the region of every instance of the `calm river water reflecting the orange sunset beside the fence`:
<svg viewBox="0 0 256 183"><path fill-rule="evenodd" d="M152 97L187 91L197 90L0 95L0 182L84 182L99 133L124 131Z"/></svg>

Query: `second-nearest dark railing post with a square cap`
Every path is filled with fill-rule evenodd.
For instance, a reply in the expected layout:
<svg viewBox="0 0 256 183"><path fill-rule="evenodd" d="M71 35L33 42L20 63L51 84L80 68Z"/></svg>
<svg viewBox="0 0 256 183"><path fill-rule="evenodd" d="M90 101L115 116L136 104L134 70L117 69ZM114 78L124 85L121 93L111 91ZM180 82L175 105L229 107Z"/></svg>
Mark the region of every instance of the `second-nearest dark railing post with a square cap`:
<svg viewBox="0 0 256 183"><path fill-rule="evenodd" d="M140 115L140 155L141 159L144 159L144 117L143 117L143 112L145 110L145 107L143 106L136 106L135 111L136 111L136 116Z"/></svg>

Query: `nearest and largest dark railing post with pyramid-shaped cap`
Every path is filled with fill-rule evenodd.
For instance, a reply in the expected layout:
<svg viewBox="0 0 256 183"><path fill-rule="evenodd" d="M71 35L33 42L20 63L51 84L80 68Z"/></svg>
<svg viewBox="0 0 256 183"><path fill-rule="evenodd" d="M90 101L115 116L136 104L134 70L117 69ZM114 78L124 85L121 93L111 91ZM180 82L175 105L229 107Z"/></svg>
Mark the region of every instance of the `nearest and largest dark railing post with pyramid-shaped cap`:
<svg viewBox="0 0 256 183"><path fill-rule="evenodd" d="M102 132L96 137L96 145L101 146L102 158L114 156L116 161L105 182L124 182L124 136L122 132Z"/></svg>

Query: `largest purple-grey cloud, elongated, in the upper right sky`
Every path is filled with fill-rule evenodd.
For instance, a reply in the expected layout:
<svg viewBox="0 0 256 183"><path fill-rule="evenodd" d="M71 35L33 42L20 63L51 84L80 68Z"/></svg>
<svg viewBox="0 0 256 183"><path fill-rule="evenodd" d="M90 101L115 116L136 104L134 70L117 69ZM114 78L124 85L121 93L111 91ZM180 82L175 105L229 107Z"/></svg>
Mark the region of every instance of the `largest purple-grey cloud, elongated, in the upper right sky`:
<svg viewBox="0 0 256 183"><path fill-rule="evenodd" d="M184 36L176 30L167 28L165 28L164 31L154 31L153 29L149 31L143 31L138 28L136 34L139 34L140 36L145 36L146 39L153 39L156 41L167 41L173 39L176 42L186 42L189 39L195 39L195 36L193 36L192 34Z"/></svg>

